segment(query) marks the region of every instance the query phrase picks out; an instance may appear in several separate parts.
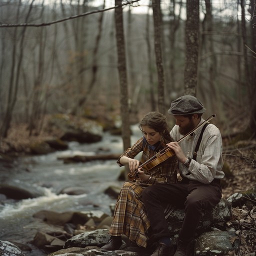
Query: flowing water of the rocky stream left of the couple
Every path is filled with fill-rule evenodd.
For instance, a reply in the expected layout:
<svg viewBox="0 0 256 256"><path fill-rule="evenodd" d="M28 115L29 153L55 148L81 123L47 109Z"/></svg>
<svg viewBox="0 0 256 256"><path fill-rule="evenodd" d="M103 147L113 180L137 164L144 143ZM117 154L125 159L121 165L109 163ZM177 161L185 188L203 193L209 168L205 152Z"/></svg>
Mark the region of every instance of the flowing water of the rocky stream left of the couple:
<svg viewBox="0 0 256 256"><path fill-rule="evenodd" d="M131 129L133 143L141 132L137 126L132 126ZM102 140L96 143L70 142L68 150L22 157L19 168L0 171L1 183L22 183L30 189L40 190L43 194L30 199L8 199L0 204L0 240L27 243L33 239L37 231L46 230L46 225L32 216L39 210L57 212L102 210L110 215L109 205L116 200L105 194L104 190L109 185L122 184L122 181L117 180L122 168L116 164L116 160L64 164L63 160L57 159L60 155L75 154L77 151L88 154L100 153L99 148L108 148L109 154L119 154L123 151L122 139L120 136L105 133ZM66 187L82 187L85 193L80 195L60 193ZM32 251L26 252L26 255L47 255L30 242L28 245L32 247Z"/></svg>

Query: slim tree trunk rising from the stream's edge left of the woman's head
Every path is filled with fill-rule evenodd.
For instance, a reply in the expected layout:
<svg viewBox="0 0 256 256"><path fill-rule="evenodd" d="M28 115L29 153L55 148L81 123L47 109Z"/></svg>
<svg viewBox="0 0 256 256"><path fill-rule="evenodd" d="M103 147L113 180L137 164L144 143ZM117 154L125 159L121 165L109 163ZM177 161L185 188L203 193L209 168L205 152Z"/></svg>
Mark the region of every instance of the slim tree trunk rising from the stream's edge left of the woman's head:
<svg viewBox="0 0 256 256"><path fill-rule="evenodd" d="M115 6L121 5L121 0L115 0L114 4ZM124 32L123 32L123 16L122 16L121 6L114 9L114 17L115 17L118 73L119 73L119 82L120 82L122 141L123 141L123 148L125 150L126 148L130 147L130 123L129 123L128 88L127 88L126 58L125 58ZM126 172L128 173L127 169L126 169Z"/></svg>

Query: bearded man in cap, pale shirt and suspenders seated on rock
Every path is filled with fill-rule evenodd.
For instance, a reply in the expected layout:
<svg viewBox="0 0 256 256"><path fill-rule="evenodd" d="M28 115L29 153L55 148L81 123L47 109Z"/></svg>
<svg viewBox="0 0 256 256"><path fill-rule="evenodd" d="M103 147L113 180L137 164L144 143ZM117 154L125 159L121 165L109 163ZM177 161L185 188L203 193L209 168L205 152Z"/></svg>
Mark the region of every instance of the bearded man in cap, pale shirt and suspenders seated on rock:
<svg viewBox="0 0 256 256"><path fill-rule="evenodd" d="M203 104L191 95L184 95L172 101L168 113L176 119L176 125L170 131L173 141L179 140L202 123L204 120L201 115L205 110ZM208 123L204 131L203 126L201 125L179 143L167 144L179 160L179 174L182 180L173 184L154 184L146 187L142 192L153 237L159 242L159 246L151 256L172 256L174 253L168 224L164 217L163 202L184 206L185 215L174 256L186 256L201 211L212 208L221 198L220 178L224 177L221 170L223 165L221 134L211 123ZM199 148L197 153L194 153L201 131Z"/></svg>

